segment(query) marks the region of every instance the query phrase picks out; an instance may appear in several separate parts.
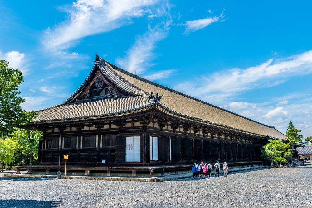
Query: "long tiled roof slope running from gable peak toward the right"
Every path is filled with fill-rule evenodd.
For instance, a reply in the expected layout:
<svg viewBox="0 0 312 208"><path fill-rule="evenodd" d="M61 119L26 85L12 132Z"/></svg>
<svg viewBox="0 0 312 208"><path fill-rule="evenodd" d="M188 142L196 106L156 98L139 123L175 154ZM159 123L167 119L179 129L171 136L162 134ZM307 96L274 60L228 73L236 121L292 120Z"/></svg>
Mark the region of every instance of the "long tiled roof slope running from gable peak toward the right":
<svg viewBox="0 0 312 208"><path fill-rule="evenodd" d="M103 59L100 59L104 62ZM125 82L129 82L142 89L144 92L153 92L163 94L161 102L173 111L179 112L183 115L188 115L194 118L210 121L212 123L230 126L234 129L244 130L246 132L253 132L258 135L270 135L272 137L285 139L286 136L276 130L273 126L261 124L251 119L245 118L238 114L224 110L217 106L203 102L196 98L177 92L168 87L161 86L149 80L129 73L119 67L105 61L107 68L119 74Z"/></svg>

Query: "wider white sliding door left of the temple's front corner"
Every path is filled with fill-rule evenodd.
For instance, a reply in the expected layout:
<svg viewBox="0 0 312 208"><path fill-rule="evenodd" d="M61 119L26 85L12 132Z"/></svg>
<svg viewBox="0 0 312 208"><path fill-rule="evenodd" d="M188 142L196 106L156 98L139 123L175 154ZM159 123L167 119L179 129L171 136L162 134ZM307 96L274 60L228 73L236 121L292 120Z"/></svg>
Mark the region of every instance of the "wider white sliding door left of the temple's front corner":
<svg viewBox="0 0 312 208"><path fill-rule="evenodd" d="M140 136L126 137L126 162L140 162Z"/></svg>

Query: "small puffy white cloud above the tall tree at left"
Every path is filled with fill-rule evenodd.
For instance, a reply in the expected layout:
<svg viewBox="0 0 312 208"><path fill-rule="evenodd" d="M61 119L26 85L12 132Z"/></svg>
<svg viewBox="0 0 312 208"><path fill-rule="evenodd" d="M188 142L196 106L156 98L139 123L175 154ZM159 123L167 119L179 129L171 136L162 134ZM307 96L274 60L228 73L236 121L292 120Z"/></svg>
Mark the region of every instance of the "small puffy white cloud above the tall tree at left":
<svg viewBox="0 0 312 208"><path fill-rule="evenodd" d="M9 62L9 67L20 69L23 75L27 74L27 67L25 66L25 54L18 51L9 51L2 55L0 52L0 59Z"/></svg>

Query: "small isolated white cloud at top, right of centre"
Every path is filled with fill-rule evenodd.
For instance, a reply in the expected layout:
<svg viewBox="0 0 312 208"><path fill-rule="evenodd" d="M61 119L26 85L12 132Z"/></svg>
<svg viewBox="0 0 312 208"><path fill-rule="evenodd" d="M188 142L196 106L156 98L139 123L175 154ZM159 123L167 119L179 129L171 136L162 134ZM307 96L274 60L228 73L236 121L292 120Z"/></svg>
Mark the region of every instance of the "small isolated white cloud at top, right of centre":
<svg viewBox="0 0 312 208"><path fill-rule="evenodd" d="M209 13L211 13L210 10L208 10ZM223 12L220 14L220 16L216 17L207 17L204 19L197 19L197 20L189 20L186 21L185 24L182 24L186 26L184 34L188 34L189 32L194 32L199 29L203 29L207 27L208 25L212 24L213 22L217 22L220 19L223 19L224 15Z"/></svg>

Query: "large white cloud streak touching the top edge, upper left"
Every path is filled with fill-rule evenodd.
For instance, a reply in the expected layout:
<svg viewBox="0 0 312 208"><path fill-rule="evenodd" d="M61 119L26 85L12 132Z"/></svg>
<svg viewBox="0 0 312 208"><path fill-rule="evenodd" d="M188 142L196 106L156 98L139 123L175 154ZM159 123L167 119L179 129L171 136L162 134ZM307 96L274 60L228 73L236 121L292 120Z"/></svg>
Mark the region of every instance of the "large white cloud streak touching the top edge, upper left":
<svg viewBox="0 0 312 208"><path fill-rule="evenodd" d="M48 27L43 43L47 48L66 49L74 40L108 32L130 24L131 18L149 12L145 7L157 0L77 0L66 10L67 21L54 28Z"/></svg>

